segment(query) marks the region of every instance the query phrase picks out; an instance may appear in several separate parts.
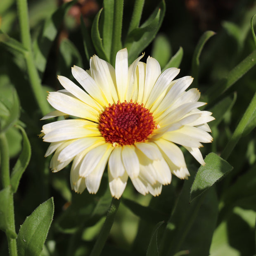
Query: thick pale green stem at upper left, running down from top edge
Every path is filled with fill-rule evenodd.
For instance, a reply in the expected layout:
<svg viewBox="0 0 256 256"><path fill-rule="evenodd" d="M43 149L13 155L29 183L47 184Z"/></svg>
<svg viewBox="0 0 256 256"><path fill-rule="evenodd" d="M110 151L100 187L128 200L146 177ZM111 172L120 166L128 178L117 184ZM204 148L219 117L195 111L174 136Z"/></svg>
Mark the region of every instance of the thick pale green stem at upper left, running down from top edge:
<svg viewBox="0 0 256 256"><path fill-rule="evenodd" d="M36 98L38 106L43 115L50 112L49 104L47 103L44 95L43 88L41 86L40 77L38 75L38 71L36 66L33 62L33 53L31 47L31 36L29 32L29 22L28 22L28 5L26 0L17 0L17 7L18 7L18 16L19 16L19 25L21 31L21 42L23 46L28 50L24 54L27 69L28 69L28 77L31 84L31 88L33 94Z"/></svg>

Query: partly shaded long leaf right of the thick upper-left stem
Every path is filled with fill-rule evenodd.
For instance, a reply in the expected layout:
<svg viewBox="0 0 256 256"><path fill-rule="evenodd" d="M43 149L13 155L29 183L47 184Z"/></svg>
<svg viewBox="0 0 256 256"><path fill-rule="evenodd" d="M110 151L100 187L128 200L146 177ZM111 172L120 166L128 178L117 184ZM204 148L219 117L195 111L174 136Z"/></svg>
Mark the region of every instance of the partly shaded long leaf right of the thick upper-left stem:
<svg viewBox="0 0 256 256"><path fill-rule="evenodd" d="M50 18L46 19L41 31L38 33L38 38L33 42L34 62L40 77L43 76L45 71L52 43L57 36L64 15L74 3L75 1L64 3L51 15Z"/></svg>

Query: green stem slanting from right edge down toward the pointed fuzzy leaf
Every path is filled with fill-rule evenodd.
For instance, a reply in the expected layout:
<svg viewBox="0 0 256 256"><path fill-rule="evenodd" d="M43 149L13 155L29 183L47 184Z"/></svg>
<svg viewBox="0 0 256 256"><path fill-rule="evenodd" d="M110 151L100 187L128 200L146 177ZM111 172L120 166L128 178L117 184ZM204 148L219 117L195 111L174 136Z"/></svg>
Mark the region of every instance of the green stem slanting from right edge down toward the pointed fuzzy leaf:
<svg viewBox="0 0 256 256"><path fill-rule="evenodd" d="M238 140L241 138L243 131L244 131L245 127L247 126L248 121L250 120L255 109L256 109L256 92L254 94L254 97L251 100L251 103L247 107L247 110L245 111L242 119L238 123L237 128L235 129L230 141L228 142L228 144L226 145L225 149L223 150L223 152L221 154L221 157L223 159L227 160L228 157L230 156L230 154L231 154L232 150L234 149L235 145L237 144Z"/></svg>

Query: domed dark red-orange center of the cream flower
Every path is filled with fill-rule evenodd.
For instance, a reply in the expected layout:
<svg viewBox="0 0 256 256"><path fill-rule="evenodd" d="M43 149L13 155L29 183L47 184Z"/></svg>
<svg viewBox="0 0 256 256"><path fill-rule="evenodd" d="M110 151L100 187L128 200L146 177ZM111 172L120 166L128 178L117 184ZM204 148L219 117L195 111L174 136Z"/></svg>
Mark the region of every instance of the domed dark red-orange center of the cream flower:
<svg viewBox="0 0 256 256"><path fill-rule="evenodd" d="M147 140L155 128L155 122L152 113L143 104L131 100L109 104L100 115L99 126L106 142L132 145Z"/></svg>

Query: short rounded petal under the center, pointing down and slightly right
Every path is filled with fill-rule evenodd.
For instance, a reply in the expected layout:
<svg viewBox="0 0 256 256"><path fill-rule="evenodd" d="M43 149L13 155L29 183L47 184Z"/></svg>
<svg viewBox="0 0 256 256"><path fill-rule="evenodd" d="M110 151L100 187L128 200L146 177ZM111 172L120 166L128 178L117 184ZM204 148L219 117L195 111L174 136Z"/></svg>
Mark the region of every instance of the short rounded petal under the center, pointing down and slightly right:
<svg viewBox="0 0 256 256"><path fill-rule="evenodd" d="M133 145L125 145L121 152L123 166L131 179L136 178L140 172L140 164L135 147Z"/></svg>

